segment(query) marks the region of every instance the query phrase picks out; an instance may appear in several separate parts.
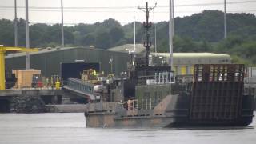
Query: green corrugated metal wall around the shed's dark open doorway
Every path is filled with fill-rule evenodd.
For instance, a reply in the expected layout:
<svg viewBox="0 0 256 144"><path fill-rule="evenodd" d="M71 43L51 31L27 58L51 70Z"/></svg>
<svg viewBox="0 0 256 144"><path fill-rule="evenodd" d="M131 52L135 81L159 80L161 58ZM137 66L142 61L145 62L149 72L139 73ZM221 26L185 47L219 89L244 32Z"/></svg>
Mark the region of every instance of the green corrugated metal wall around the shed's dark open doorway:
<svg viewBox="0 0 256 144"><path fill-rule="evenodd" d="M93 48L65 48L61 50L42 50L37 54L30 55L30 67L42 70L42 75L51 76L60 74L60 63L74 62L75 60L85 60L85 62L99 62L102 71L110 74L110 58L113 57L114 74L119 74L126 70L126 63L129 62L129 54L108 50L98 50ZM6 58L6 72L10 73L14 69L24 69L26 67L25 56L11 54Z"/></svg>

